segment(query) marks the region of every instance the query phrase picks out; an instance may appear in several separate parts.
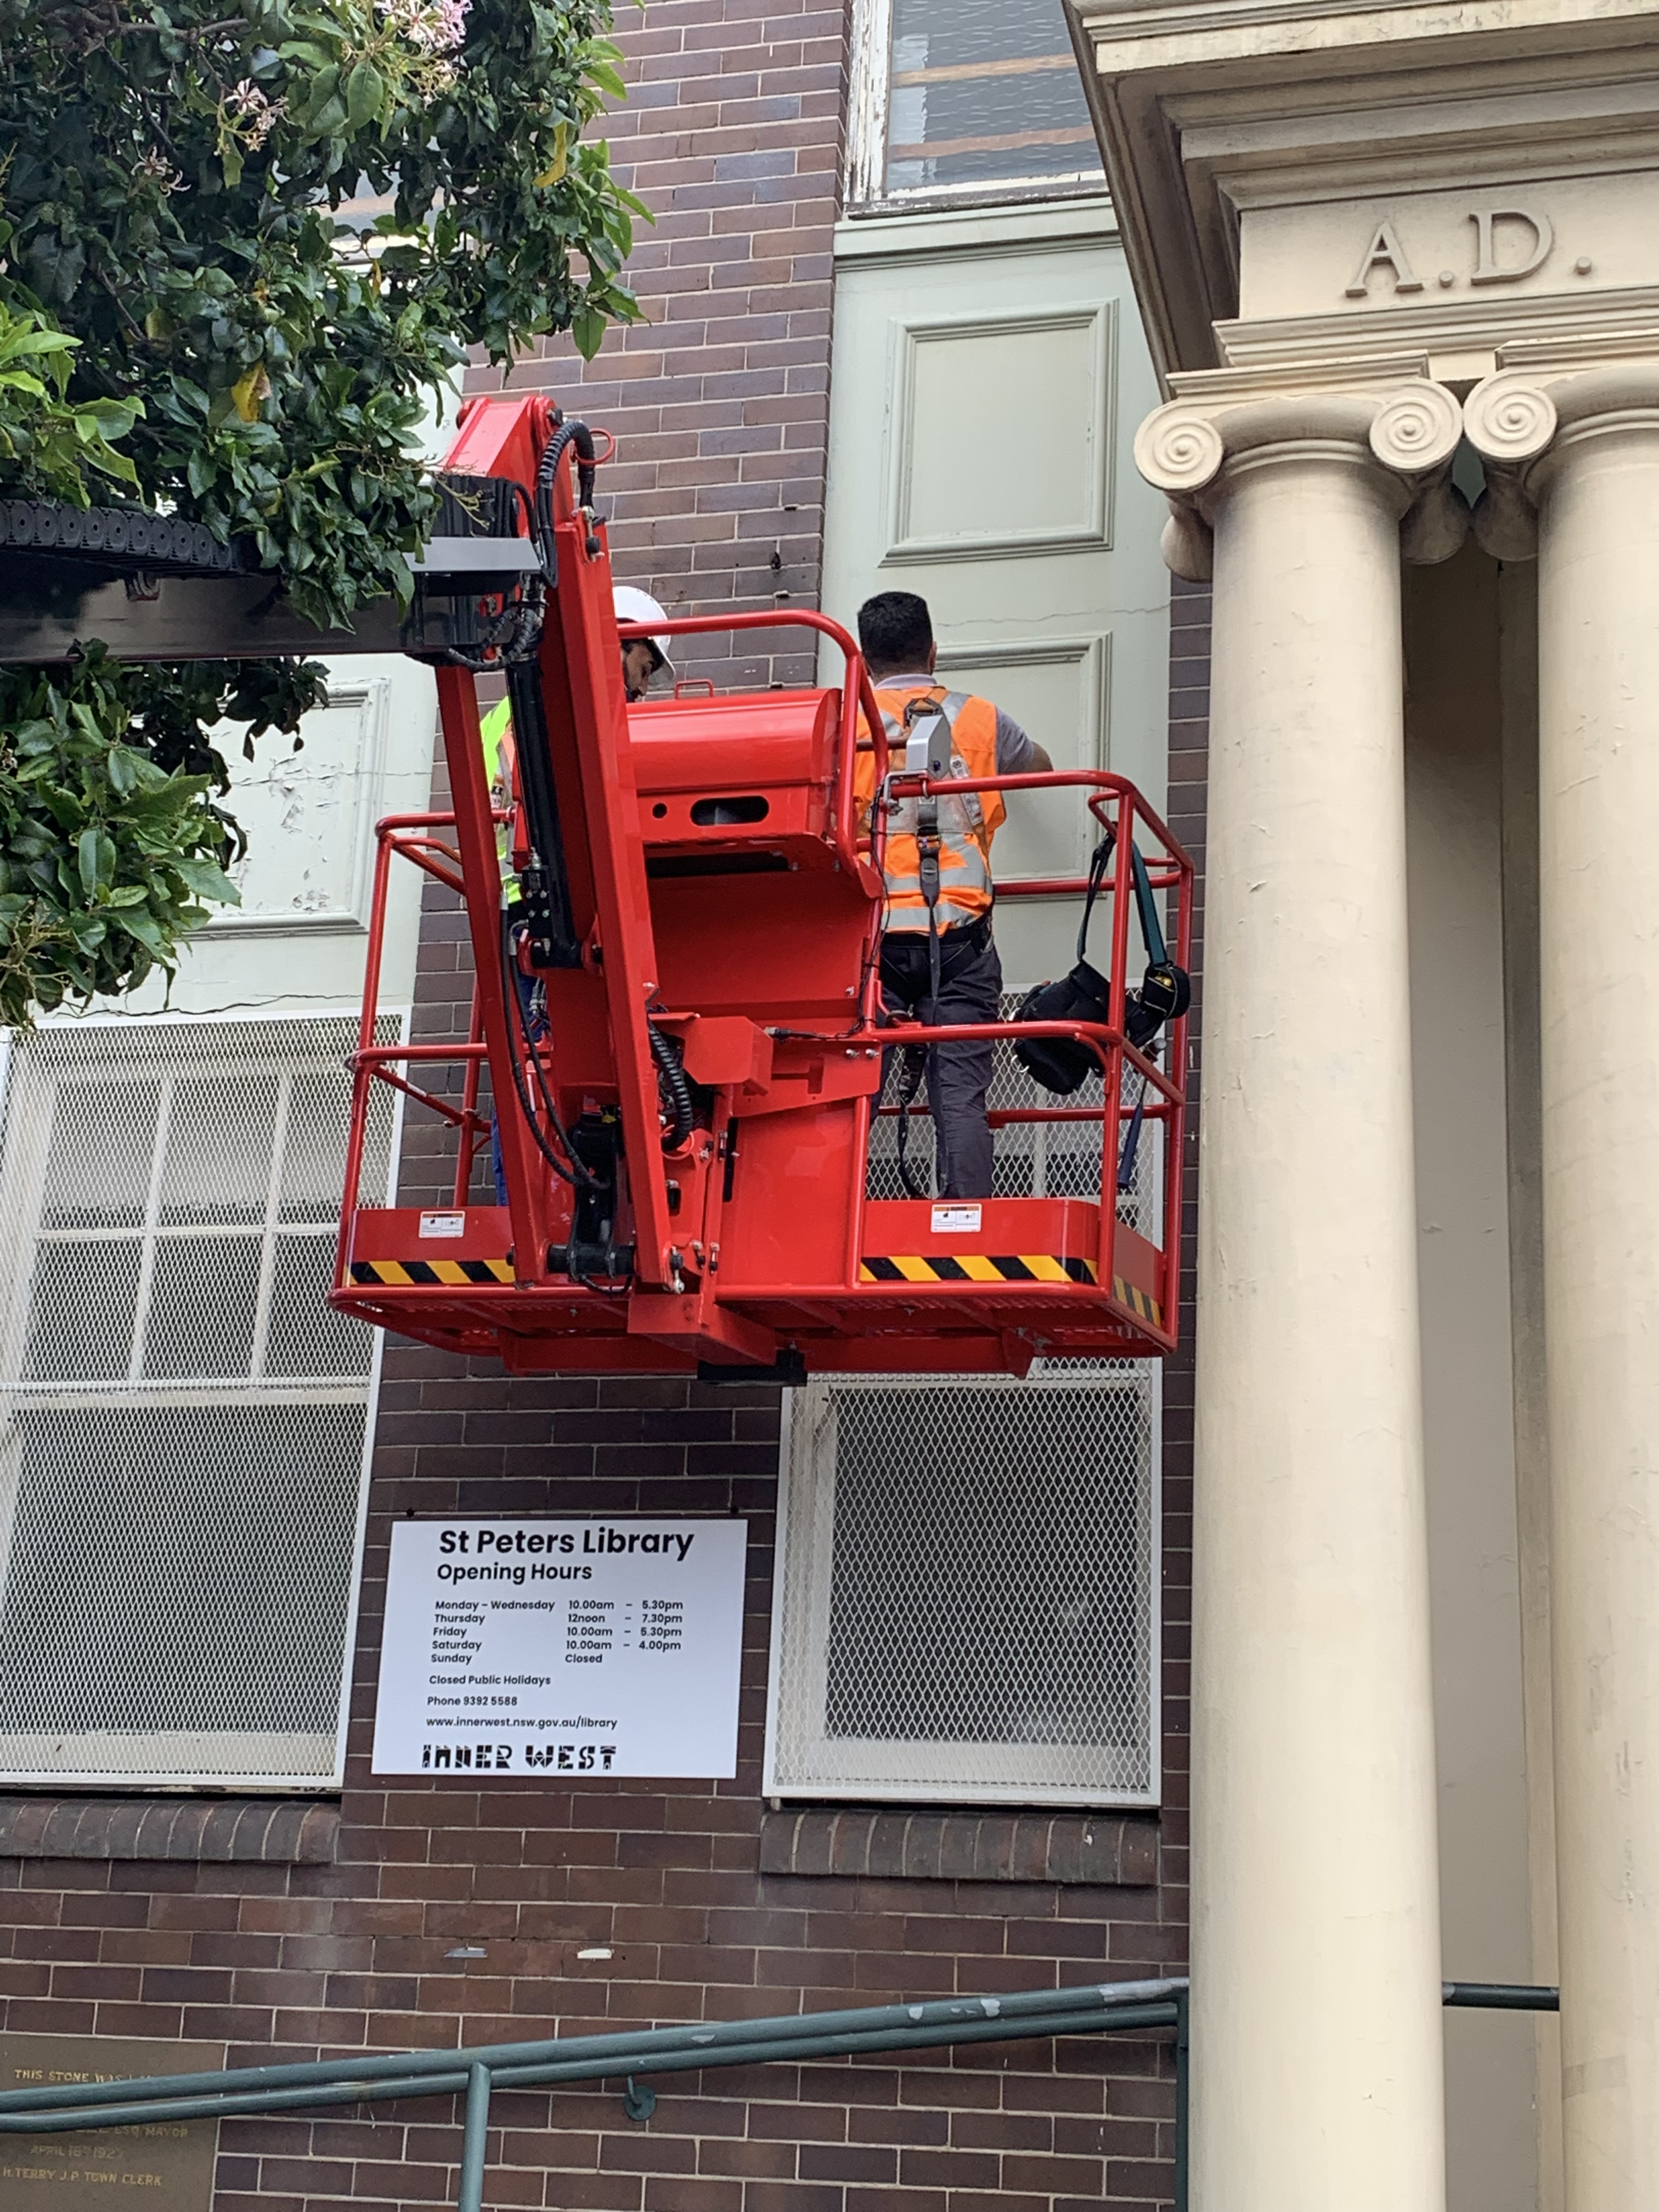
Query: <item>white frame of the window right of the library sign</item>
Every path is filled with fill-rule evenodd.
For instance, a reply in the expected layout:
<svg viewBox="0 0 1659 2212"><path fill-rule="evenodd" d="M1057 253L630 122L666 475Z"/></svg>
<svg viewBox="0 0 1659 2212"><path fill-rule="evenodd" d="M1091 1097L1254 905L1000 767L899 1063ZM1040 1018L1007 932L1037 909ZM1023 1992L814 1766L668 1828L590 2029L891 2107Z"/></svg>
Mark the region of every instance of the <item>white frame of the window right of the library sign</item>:
<svg viewBox="0 0 1659 2212"><path fill-rule="evenodd" d="M761 1790L768 1798L779 1803L825 1803L825 1801L856 1801L863 1805L1042 1805L1042 1807L1073 1807L1073 1809L1130 1809L1130 1807L1157 1807L1161 1801L1161 1756L1164 1756L1164 1367L1159 1360L1126 1363L1133 1365L1137 1374L1146 1376L1148 1389L1148 1447L1150 1464L1146 1471L1148 1480L1148 1688L1146 1688L1146 1712L1148 1712L1148 1781L1144 1790L1135 1787L1084 1787L1084 1785L1062 1785L1062 1783L1011 1783L1011 1781L975 1781L975 1765L984 1765L987 1752L995 1759L1006 1759L1009 1745L998 1743L980 1750L969 1739L960 1745L951 1745L949 1754L942 1754L940 1745L931 1745L929 1752L936 1759L936 1772L918 1776L914 1770L920 1763L918 1747L909 1739L852 1739L858 1743L858 1763L863 1774L849 1776L845 1781L825 1778L832 1767L832 1756L827 1750L830 1739L816 1734L812 1739L814 1752L821 1752L818 1774L812 1781L801 1781L781 1772L779 1739L785 1692L794 1690L803 1699L810 1712L821 1714L825 1703L825 1657L827 1657L827 1630L830 1630L830 1566L834 1559L834 1422L832 1422L832 1394L836 1387L856 1389L883 1389L889 1387L896 1394L902 1389L940 1389L971 1394L975 1389L998 1389L998 1391L1042 1391L1042 1389L1075 1389L1079 1380L1086 1380L1075 1369L1055 1363L1060 1371L1033 1374L1022 1383L1011 1376L818 1376L805 1387L787 1391L783 1405L783 1440L779 1451L779 1522L776 1522L776 1551L774 1551L774 1575L772 1575L772 1637L770 1637L770 1659L768 1659L768 1692L765 1692L765 1767ZM1106 1378L1102 1378L1106 1380ZM801 1425L816 1425L816 1438L807 1447L810 1462L796 1460L796 1442ZM812 1475L799 1478L794 1473L796 1464L810 1464ZM807 1489L810 1500L803 1500L801 1491ZM801 1504L807 1504L810 1524L803 1528L799 1513ZM801 1544L807 1548L805 1573L799 1577L805 1586L807 1597L807 1624L801 1630L801 1641L805 1644L807 1666L812 1670L805 1692L799 1686L799 1677L790 1683L790 1655L785 1650L785 1639L790 1632L790 1593L796 1582L794 1562L799 1559ZM885 1774L874 1770L885 1767ZM947 1772L953 1767L956 1772ZM905 1770L911 1770L909 1774Z"/></svg>

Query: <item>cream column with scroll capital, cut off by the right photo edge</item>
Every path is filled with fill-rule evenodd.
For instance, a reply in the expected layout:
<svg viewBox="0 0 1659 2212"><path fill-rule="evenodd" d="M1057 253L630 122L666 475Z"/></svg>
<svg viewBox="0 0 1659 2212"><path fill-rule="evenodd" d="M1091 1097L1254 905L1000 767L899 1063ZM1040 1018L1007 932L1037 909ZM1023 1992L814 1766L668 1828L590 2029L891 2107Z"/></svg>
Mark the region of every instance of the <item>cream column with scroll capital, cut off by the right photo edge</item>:
<svg viewBox="0 0 1659 2212"><path fill-rule="evenodd" d="M1469 400L1537 500L1551 1632L1568 2212L1659 2203L1659 361Z"/></svg>

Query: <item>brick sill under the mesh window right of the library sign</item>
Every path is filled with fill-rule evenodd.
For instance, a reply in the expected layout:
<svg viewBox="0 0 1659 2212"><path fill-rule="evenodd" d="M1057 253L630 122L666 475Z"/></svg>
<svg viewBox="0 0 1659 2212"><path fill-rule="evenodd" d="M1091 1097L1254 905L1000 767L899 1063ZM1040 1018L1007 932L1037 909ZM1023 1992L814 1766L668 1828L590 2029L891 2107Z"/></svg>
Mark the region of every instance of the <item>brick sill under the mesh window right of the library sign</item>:
<svg viewBox="0 0 1659 2212"><path fill-rule="evenodd" d="M761 1874L1157 1887L1157 1818L805 1807L768 1812Z"/></svg>

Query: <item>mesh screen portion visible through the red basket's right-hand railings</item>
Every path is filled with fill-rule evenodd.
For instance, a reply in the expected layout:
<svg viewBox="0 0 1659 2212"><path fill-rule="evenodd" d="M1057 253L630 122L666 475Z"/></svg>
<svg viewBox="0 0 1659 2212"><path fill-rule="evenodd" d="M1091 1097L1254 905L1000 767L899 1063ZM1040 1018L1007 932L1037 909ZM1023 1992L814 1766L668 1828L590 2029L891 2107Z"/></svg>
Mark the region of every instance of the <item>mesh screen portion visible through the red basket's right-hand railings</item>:
<svg viewBox="0 0 1659 2212"><path fill-rule="evenodd" d="M1020 991L1004 991L1000 1018L1011 1022L1020 1006ZM1124 1102L1133 1108L1141 1093L1141 1077L1124 1071ZM889 1066L885 1099L898 1097L898 1068ZM1013 1057L1013 1046L1000 1037L993 1046L991 1113L1031 1108L1071 1108L1099 1104L1099 1077L1093 1077L1068 1099L1057 1099L1026 1075ZM1159 1161L1164 1133L1157 1124L1141 1126L1130 1164L1128 1188L1117 1197L1117 1219L1161 1241L1161 1179ZM1124 1137L1117 1137L1119 1155ZM1013 1121L995 1133L995 1197L1000 1199L1097 1199L1099 1197L1099 1121ZM927 1079L916 1095L905 1139L905 1159L916 1188L933 1192L933 1121L927 1113ZM905 1183L898 1172L898 1119L891 1113L878 1115L869 1137L869 1170L865 1190L872 1199L902 1199Z"/></svg>

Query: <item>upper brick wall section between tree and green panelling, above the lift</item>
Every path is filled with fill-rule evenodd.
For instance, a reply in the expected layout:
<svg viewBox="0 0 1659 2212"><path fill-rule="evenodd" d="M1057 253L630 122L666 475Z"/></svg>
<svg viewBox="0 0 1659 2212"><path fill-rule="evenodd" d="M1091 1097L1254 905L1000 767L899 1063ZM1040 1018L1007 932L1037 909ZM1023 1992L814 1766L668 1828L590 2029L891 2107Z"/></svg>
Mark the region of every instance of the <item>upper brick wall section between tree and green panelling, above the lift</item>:
<svg viewBox="0 0 1659 2212"><path fill-rule="evenodd" d="M586 365L553 341L511 383L617 434L599 504L619 582L670 615L816 608L843 9L650 0L641 24L628 15L611 133L617 175L655 215L628 263L644 321ZM688 639L675 659L745 686L805 681L814 664L801 633L774 650Z"/></svg>

